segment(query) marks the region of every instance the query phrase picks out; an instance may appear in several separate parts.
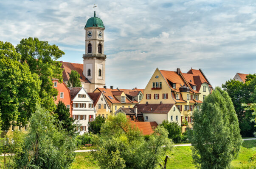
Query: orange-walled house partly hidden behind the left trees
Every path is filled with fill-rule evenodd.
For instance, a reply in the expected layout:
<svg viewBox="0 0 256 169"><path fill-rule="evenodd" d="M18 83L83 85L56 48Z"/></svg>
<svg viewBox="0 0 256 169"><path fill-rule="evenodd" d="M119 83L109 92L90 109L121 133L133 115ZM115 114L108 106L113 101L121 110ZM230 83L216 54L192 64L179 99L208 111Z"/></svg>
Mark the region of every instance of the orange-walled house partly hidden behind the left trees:
<svg viewBox="0 0 256 169"><path fill-rule="evenodd" d="M55 104L58 104L59 101L62 101L67 108L69 108L70 111L70 117L72 117L72 107L70 105L72 105L72 100L70 97L70 90L68 89L68 87L65 85L64 82L59 83L58 80L53 79L53 87L56 88L58 90L58 95L55 101Z"/></svg>

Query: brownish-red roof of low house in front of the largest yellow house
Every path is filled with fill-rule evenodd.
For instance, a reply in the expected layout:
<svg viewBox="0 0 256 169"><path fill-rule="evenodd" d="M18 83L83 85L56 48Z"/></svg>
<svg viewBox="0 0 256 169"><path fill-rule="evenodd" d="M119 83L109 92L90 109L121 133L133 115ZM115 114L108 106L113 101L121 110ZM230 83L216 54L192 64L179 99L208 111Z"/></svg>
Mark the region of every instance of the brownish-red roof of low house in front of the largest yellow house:
<svg viewBox="0 0 256 169"><path fill-rule="evenodd" d="M136 104L138 112L167 114L174 104Z"/></svg>

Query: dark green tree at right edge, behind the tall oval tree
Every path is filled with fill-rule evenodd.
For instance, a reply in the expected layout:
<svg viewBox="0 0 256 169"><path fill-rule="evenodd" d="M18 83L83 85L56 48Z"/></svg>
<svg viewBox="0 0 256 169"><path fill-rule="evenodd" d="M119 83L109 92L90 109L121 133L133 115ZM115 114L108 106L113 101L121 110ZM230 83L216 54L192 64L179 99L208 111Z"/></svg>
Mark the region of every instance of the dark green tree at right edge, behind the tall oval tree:
<svg viewBox="0 0 256 169"><path fill-rule="evenodd" d="M256 128L253 123L250 122L252 114L250 111L244 111L242 103L256 103L256 74L249 74L245 81L239 82L236 80L228 80L222 85L223 90L228 92L231 97L238 121L241 135L244 137L250 137Z"/></svg>

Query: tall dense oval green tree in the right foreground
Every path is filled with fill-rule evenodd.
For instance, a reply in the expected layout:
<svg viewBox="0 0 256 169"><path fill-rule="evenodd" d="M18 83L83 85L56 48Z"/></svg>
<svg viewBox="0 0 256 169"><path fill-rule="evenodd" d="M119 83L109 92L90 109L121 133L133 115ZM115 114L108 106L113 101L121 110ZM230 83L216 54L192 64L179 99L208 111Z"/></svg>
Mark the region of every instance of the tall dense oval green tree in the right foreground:
<svg viewBox="0 0 256 169"><path fill-rule="evenodd" d="M188 132L194 164L200 169L227 169L236 158L242 138L228 93L216 87L195 110L193 130Z"/></svg>

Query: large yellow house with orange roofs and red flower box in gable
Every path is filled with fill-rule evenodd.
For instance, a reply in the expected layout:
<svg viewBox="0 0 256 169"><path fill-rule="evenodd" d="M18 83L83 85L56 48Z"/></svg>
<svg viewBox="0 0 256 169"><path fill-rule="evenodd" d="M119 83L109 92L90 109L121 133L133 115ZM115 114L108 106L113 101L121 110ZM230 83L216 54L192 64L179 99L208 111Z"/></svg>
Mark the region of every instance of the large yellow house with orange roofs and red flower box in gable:
<svg viewBox="0 0 256 169"><path fill-rule="evenodd" d="M192 128L194 109L200 109L204 98L210 94L212 86L201 69L191 69L186 74L177 71L155 70L144 89L141 104L175 104L181 112L180 122L185 120ZM186 126L182 126L186 131Z"/></svg>

